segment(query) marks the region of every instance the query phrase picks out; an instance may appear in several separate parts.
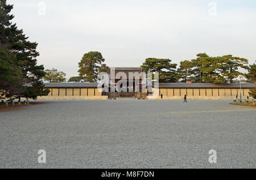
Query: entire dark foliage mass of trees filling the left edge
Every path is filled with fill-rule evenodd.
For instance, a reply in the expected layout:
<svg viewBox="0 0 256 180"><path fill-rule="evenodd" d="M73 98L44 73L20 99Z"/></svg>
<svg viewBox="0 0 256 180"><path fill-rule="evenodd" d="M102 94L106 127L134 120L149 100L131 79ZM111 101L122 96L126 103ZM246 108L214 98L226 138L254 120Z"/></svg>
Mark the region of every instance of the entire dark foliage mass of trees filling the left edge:
<svg viewBox="0 0 256 180"><path fill-rule="evenodd" d="M14 16L10 15L13 5L6 0L0 1L0 51L1 51L1 97L26 97L36 99L47 95L42 77L43 65L37 65L37 43L28 41L28 37L12 24Z"/></svg>

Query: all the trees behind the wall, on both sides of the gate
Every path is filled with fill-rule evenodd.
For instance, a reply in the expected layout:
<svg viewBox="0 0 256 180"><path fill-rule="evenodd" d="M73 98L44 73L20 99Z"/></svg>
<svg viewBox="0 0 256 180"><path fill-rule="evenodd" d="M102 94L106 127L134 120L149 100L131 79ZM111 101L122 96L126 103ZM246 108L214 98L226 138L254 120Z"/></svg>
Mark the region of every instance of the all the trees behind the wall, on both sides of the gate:
<svg viewBox="0 0 256 180"><path fill-rule="evenodd" d="M98 74L109 68L104 62L100 52L85 53L79 62L79 76L71 77L68 82L97 82ZM246 77L248 82L255 82L255 64L248 66L246 58L232 55L210 57L199 53L195 59L181 61L179 66L169 58L147 58L141 67L146 73L159 73L160 83L234 83L240 76ZM63 74L53 70L55 75ZM242 73L242 70L248 73ZM51 82L49 78L45 79ZM60 79L63 78L56 78L55 82L61 82ZM255 97L255 90L251 93Z"/></svg>

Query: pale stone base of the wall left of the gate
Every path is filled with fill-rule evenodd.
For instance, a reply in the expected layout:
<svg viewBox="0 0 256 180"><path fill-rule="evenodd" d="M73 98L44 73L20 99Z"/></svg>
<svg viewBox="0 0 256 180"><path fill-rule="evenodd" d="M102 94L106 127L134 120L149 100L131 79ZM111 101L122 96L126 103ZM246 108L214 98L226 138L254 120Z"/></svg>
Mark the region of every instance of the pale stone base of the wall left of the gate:
<svg viewBox="0 0 256 180"><path fill-rule="evenodd" d="M38 100L107 100L108 96L93 96L93 97L83 97L83 96L47 96L38 97Z"/></svg>

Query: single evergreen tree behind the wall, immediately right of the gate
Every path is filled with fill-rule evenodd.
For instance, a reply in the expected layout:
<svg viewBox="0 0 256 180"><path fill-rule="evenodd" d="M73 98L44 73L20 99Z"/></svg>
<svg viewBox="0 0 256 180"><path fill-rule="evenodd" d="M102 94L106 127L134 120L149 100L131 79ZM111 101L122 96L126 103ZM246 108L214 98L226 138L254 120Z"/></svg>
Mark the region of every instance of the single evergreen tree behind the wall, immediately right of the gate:
<svg viewBox="0 0 256 180"><path fill-rule="evenodd" d="M159 82L177 82L177 64L171 64L170 59L147 58L141 66L144 72L159 73Z"/></svg>

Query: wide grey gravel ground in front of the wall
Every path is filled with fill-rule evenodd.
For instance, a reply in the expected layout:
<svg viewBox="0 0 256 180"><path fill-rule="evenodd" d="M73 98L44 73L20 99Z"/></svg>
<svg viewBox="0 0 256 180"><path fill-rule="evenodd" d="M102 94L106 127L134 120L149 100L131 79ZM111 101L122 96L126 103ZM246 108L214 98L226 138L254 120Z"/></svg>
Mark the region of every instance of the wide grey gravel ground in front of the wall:
<svg viewBox="0 0 256 180"><path fill-rule="evenodd" d="M256 168L256 108L228 103L46 101L0 112L0 168Z"/></svg>

